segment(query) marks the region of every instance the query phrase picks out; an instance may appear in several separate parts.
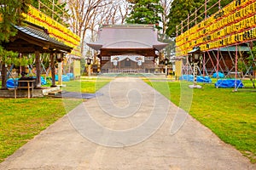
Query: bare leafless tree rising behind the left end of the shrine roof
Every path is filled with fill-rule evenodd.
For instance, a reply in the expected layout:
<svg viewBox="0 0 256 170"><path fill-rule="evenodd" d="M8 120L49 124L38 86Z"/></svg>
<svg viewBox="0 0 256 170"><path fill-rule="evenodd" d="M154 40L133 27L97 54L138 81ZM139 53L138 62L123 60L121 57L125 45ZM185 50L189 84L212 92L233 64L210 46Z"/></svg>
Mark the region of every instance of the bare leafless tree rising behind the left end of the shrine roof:
<svg viewBox="0 0 256 170"><path fill-rule="evenodd" d="M125 0L69 0L67 7L70 28L81 37L84 54L84 41L95 41L102 24L123 24L129 5Z"/></svg>

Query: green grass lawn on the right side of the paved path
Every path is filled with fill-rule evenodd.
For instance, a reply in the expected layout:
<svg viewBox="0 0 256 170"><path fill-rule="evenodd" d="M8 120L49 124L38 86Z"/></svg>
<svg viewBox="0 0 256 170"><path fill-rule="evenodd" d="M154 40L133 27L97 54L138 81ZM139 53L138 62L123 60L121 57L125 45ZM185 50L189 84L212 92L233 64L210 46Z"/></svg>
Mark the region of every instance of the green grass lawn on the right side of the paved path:
<svg viewBox="0 0 256 170"><path fill-rule="evenodd" d="M214 88L213 84L201 84L201 89L190 89L188 86L191 82L145 82L171 99L175 105L189 111L191 116L209 127L225 143L235 146L251 162L256 162L255 92L233 93L231 88ZM170 93L162 89L166 84ZM191 99L193 97L191 107L184 105L189 104L185 99L189 94Z"/></svg>

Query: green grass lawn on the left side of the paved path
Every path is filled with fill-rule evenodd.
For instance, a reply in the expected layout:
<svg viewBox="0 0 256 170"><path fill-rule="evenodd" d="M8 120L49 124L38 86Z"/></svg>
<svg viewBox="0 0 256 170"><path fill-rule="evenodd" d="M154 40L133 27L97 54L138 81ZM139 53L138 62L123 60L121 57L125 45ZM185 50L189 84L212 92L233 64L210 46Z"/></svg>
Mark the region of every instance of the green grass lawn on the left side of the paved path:
<svg viewBox="0 0 256 170"><path fill-rule="evenodd" d="M81 78L67 82L67 89L95 93L109 80ZM66 83L66 82L65 82ZM0 99L0 162L50 124L66 115L81 99Z"/></svg>

